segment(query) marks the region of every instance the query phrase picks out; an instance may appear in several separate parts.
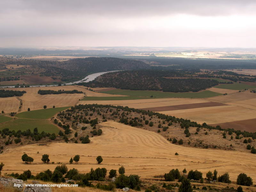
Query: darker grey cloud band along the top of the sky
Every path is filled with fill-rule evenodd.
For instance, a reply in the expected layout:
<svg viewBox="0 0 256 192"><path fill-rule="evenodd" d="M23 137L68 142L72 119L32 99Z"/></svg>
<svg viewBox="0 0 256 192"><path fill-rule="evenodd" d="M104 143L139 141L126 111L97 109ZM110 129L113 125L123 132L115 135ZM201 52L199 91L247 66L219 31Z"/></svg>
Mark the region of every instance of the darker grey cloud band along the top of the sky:
<svg viewBox="0 0 256 192"><path fill-rule="evenodd" d="M193 14L204 16L255 14L255 0L1 0L1 12L42 14L102 14L145 16Z"/></svg>

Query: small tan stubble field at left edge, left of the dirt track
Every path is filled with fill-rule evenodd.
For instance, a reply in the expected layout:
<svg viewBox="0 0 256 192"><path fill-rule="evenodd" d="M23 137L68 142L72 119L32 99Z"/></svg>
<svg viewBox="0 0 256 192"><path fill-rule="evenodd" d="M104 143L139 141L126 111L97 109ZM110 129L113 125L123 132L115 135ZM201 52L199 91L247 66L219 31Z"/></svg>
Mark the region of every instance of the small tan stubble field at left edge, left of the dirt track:
<svg viewBox="0 0 256 192"><path fill-rule="evenodd" d="M16 112L19 110L20 101L16 97L0 98L0 112L4 113Z"/></svg>

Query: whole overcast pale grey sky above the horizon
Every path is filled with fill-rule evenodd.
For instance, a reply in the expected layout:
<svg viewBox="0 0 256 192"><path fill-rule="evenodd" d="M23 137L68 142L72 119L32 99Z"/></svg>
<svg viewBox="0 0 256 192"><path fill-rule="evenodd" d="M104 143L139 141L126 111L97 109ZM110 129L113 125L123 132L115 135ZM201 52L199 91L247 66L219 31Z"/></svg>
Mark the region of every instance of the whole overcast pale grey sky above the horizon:
<svg viewBox="0 0 256 192"><path fill-rule="evenodd" d="M256 47L256 0L0 0L0 47Z"/></svg>

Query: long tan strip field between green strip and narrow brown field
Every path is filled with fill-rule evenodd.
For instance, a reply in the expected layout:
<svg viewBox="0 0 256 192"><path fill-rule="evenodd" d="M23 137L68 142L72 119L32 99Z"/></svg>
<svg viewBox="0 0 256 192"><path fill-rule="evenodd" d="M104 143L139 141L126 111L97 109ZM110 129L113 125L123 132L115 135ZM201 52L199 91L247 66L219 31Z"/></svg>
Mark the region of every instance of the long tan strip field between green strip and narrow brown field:
<svg viewBox="0 0 256 192"><path fill-rule="evenodd" d="M103 104L103 105L122 105L130 108L148 108L164 107L171 105L182 105L191 103L209 102L203 99L186 99L186 98L164 98L164 99L138 99L138 100L108 100L108 101L79 101L79 104Z"/></svg>

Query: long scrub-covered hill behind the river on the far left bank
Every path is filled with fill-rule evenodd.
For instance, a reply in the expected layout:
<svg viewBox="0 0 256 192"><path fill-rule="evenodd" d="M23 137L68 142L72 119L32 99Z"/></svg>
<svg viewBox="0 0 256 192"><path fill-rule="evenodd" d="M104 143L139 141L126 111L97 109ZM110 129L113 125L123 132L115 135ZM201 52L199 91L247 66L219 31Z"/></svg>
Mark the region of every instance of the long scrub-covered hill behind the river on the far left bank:
<svg viewBox="0 0 256 192"><path fill-rule="evenodd" d="M15 73L15 76L17 77L35 75L48 76L53 79L60 79L63 82L80 80L89 74L97 72L150 68L148 64L139 60L113 57L88 57L83 59L71 59L68 61L6 59L3 57L0 58L0 67L1 64L2 68L9 64L25 65L26 68L20 68L22 73L20 72L19 74L19 71Z"/></svg>

